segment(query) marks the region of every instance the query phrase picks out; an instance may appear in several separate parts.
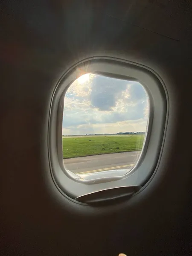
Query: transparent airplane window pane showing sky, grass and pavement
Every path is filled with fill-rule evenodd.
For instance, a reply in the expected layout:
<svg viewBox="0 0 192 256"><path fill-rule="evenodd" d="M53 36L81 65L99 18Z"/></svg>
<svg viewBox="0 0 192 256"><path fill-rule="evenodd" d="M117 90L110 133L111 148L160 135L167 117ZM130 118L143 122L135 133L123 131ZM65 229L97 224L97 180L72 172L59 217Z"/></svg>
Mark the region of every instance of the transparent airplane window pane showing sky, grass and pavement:
<svg viewBox="0 0 192 256"><path fill-rule="evenodd" d="M140 158L148 113L148 96L139 82L80 76L64 97L65 169L81 180L128 173Z"/></svg>

